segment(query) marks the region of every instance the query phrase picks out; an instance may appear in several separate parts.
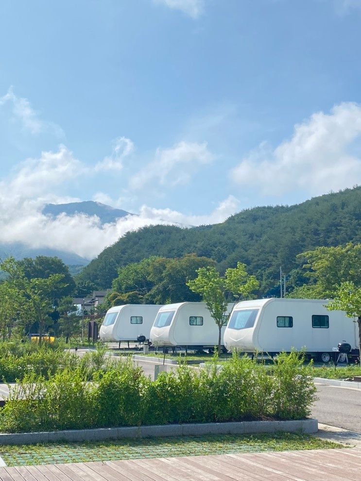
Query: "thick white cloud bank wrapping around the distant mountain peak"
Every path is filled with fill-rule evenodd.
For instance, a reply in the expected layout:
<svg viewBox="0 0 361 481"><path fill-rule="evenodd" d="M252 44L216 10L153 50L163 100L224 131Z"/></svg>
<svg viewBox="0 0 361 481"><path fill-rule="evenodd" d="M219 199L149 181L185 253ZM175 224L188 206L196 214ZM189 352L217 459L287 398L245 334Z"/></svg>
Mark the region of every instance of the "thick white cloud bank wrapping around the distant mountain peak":
<svg viewBox="0 0 361 481"><path fill-rule="evenodd" d="M83 169L83 164L64 146L57 152L43 152L40 158L20 164L10 178L0 182L0 243L21 242L33 249L46 247L92 258L128 231L155 224L221 222L238 209L237 199L230 196L205 216L184 215L145 205L139 216L126 216L103 225L97 216L61 214L54 218L44 215L42 208L46 202L76 200L61 198L56 191L81 175ZM105 203L111 200L100 192L94 198Z"/></svg>

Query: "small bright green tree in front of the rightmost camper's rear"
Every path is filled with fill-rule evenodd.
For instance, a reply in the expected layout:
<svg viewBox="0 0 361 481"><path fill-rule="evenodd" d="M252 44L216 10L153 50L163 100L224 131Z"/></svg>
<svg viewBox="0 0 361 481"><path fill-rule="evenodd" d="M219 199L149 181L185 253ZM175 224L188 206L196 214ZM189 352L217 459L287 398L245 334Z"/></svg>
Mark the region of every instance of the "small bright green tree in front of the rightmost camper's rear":
<svg viewBox="0 0 361 481"><path fill-rule="evenodd" d="M329 311L344 311L348 317L357 317L361 365L361 287L357 287L354 282L342 282L334 299L326 307Z"/></svg>

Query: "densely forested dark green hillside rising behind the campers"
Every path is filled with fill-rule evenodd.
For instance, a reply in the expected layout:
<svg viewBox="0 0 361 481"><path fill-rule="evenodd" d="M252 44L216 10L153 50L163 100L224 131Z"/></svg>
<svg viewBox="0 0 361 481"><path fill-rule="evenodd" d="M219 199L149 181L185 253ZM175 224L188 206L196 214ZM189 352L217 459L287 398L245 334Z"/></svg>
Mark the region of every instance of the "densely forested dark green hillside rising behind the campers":
<svg viewBox="0 0 361 481"><path fill-rule="evenodd" d="M223 272L240 261L273 294L279 266L290 273L302 265L296 255L318 246L361 241L361 187L316 197L292 206L256 207L222 224L197 228L152 226L128 232L103 250L78 277L98 288L111 287L117 267L150 255L181 257L196 253L214 259Z"/></svg>

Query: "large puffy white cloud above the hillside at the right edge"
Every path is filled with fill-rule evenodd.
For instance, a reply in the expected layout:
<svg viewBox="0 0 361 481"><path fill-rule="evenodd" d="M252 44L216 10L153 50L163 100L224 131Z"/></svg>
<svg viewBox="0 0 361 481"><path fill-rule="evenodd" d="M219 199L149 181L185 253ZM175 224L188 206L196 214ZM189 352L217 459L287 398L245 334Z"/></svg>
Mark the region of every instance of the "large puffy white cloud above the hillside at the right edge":
<svg viewBox="0 0 361 481"><path fill-rule="evenodd" d="M361 105L341 103L294 128L291 140L275 149L261 144L231 172L239 185L263 194L303 191L312 195L361 182Z"/></svg>

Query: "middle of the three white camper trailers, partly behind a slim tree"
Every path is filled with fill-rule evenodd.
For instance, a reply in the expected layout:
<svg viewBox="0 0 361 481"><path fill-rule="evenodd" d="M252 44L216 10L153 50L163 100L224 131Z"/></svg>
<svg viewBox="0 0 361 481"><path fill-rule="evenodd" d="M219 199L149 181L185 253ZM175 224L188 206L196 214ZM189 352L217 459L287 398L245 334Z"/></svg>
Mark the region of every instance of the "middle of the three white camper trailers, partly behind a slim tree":
<svg viewBox="0 0 361 481"><path fill-rule="evenodd" d="M228 304L223 332L232 304ZM218 344L218 326L209 314L204 302L181 302L161 307L151 329L151 341L155 346L208 348Z"/></svg>

